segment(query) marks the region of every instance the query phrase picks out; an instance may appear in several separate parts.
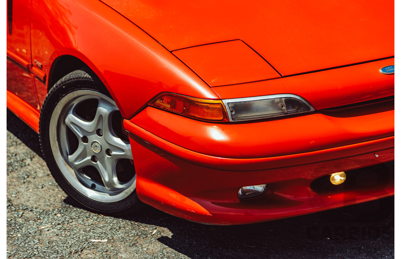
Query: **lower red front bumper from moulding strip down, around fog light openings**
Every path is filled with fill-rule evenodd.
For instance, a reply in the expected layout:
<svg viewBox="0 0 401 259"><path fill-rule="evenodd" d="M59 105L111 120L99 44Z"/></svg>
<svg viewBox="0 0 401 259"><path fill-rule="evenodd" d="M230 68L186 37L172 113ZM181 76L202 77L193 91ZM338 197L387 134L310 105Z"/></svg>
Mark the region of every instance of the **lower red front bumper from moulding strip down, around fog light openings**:
<svg viewBox="0 0 401 259"><path fill-rule="evenodd" d="M247 224L394 195L393 178L384 187L334 195L316 194L310 188L315 179L336 171L393 161L394 137L280 157L236 159L184 149L128 120L124 127L133 147L138 197L188 220ZM239 188L256 184L268 184L267 193L240 202Z"/></svg>

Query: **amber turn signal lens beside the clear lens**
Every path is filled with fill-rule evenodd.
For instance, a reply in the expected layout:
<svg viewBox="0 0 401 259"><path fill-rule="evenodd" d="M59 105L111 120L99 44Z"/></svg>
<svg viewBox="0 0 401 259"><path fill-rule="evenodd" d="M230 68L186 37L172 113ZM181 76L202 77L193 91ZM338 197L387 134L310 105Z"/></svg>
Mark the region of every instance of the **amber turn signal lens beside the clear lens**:
<svg viewBox="0 0 401 259"><path fill-rule="evenodd" d="M205 100L176 94L162 94L152 101L150 105L200 120L229 121L221 100Z"/></svg>

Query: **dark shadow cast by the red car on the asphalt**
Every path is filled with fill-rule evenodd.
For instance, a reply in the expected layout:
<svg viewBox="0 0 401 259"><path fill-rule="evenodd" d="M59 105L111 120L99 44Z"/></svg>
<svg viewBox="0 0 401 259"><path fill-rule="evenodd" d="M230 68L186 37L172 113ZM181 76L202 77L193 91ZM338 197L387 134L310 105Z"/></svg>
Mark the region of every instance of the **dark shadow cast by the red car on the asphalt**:
<svg viewBox="0 0 401 259"><path fill-rule="evenodd" d="M7 110L7 130L43 157L38 135ZM64 200L85 209L71 197ZM190 222L146 206L132 217L167 228L160 243L190 258L385 258L394 257L394 198L335 210L239 226Z"/></svg>

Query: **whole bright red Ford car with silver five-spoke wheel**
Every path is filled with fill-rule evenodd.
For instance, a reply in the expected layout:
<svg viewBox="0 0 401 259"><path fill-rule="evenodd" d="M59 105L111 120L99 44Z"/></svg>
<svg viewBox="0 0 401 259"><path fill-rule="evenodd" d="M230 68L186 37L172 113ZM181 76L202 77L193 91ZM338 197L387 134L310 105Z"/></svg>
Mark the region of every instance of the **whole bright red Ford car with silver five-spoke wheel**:
<svg viewBox="0 0 401 259"><path fill-rule="evenodd" d="M7 2L7 107L89 209L245 224L394 195L393 2Z"/></svg>

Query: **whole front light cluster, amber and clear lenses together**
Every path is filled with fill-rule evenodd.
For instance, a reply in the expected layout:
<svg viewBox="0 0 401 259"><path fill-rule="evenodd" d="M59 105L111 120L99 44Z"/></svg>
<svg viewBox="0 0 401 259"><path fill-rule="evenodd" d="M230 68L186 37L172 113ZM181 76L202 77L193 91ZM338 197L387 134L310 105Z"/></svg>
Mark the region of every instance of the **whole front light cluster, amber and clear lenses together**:
<svg viewBox="0 0 401 259"><path fill-rule="evenodd" d="M304 98L294 94L206 100L164 93L149 105L191 118L220 122L256 120L315 110Z"/></svg>

